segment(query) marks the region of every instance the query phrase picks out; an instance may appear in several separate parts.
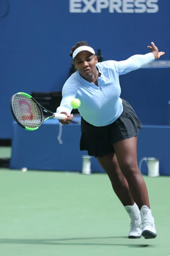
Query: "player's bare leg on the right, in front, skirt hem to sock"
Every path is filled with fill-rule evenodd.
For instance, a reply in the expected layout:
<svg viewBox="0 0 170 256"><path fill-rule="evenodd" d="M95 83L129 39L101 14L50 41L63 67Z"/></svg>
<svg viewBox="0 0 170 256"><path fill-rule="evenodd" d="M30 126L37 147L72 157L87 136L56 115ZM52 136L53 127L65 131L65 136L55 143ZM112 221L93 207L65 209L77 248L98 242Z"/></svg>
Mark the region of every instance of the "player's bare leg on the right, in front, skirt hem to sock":
<svg viewBox="0 0 170 256"><path fill-rule="evenodd" d="M121 140L113 145L120 169L127 180L133 200L139 209L143 205L150 208L147 187L138 168L136 147L137 137Z"/></svg>

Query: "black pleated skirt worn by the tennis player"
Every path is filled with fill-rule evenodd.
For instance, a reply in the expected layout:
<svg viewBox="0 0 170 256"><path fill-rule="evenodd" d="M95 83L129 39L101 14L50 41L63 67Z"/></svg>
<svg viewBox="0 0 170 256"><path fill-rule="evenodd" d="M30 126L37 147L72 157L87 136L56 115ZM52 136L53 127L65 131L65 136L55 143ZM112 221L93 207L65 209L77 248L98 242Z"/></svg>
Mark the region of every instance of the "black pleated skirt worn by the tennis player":
<svg viewBox="0 0 170 256"><path fill-rule="evenodd" d="M103 157L114 152L113 145L139 134L142 124L132 106L122 99L123 112L110 125L97 127L81 118L80 150L88 151L88 155Z"/></svg>

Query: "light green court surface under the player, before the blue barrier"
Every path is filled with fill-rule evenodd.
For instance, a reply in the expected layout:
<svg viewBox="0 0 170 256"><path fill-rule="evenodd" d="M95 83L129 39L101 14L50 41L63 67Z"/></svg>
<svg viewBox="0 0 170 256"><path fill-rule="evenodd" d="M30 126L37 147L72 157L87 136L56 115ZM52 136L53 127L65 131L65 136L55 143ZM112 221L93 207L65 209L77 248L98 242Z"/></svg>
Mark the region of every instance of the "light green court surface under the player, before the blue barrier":
<svg viewBox="0 0 170 256"><path fill-rule="evenodd" d="M144 177L158 237L127 239L105 174L0 169L0 256L169 256L170 177Z"/></svg>

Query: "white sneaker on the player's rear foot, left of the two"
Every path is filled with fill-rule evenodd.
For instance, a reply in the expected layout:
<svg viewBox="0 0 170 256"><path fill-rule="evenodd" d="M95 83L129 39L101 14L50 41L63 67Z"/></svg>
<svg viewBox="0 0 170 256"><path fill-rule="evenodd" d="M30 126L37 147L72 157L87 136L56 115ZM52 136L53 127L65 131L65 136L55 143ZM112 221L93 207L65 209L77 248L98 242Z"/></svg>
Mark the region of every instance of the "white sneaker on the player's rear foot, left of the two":
<svg viewBox="0 0 170 256"><path fill-rule="evenodd" d="M141 217L139 217L135 221L130 221L130 231L128 234L128 238L136 239L142 236L142 223Z"/></svg>

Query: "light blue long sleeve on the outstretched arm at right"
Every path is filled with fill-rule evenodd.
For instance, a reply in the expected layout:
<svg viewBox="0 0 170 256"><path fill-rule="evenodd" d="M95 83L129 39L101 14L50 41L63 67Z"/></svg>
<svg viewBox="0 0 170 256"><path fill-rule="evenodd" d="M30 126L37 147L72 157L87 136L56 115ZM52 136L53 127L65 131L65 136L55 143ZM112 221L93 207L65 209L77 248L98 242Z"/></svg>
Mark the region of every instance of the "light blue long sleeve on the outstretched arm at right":
<svg viewBox="0 0 170 256"><path fill-rule="evenodd" d="M114 65L119 75L124 75L130 71L137 70L150 62L153 62L155 57L152 52L145 55L133 55L125 61L114 61Z"/></svg>

